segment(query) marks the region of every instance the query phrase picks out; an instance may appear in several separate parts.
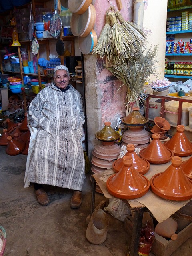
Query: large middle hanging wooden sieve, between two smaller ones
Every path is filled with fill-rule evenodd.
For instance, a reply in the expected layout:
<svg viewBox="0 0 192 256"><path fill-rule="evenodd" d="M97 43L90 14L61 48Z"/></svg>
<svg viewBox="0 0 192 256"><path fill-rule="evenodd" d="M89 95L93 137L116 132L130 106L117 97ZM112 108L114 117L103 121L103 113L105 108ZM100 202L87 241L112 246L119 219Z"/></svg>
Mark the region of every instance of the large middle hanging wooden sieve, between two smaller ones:
<svg viewBox="0 0 192 256"><path fill-rule="evenodd" d="M84 14L73 13L71 17L71 32L74 36L86 37L90 34L96 20L96 11L92 4Z"/></svg>

